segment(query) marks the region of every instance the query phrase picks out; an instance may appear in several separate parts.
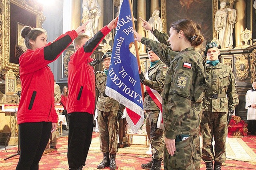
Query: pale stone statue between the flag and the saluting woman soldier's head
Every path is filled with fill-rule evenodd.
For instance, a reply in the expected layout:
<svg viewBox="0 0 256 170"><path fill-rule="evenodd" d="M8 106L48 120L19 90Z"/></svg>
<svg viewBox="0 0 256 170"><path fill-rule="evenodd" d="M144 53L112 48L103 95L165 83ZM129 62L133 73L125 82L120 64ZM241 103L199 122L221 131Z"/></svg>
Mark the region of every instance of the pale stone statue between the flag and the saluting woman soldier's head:
<svg viewBox="0 0 256 170"><path fill-rule="evenodd" d="M163 31L163 23L161 18L159 17L160 11L154 10L152 16L149 18L148 23L153 27L153 29L158 29L158 31ZM153 33L148 30L148 38L152 39L154 41L158 41L156 37L153 35Z"/></svg>

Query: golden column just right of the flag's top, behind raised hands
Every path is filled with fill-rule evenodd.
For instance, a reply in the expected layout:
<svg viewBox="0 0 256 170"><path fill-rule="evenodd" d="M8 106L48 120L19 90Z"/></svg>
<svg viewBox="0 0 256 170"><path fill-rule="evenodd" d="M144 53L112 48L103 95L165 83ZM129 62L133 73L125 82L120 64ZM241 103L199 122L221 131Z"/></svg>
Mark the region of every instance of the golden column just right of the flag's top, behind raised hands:
<svg viewBox="0 0 256 170"><path fill-rule="evenodd" d="M142 27L142 21L139 17L146 19L146 0L138 0L137 5L137 31L142 37L145 37L145 31ZM139 48L140 53L146 53L146 47L142 43L140 43Z"/></svg>

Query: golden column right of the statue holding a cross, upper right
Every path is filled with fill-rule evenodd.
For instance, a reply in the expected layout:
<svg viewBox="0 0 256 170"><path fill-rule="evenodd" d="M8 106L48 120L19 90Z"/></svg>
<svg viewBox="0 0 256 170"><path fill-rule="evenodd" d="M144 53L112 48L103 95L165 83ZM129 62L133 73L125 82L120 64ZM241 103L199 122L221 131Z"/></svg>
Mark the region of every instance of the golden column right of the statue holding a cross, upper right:
<svg viewBox="0 0 256 170"><path fill-rule="evenodd" d="M236 46L235 48L241 48L241 33L245 29L246 25L246 15L245 15L246 3L245 0L236 0L234 2L234 9L236 9L236 23L235 23L235 37L236 37Z"/></svg>

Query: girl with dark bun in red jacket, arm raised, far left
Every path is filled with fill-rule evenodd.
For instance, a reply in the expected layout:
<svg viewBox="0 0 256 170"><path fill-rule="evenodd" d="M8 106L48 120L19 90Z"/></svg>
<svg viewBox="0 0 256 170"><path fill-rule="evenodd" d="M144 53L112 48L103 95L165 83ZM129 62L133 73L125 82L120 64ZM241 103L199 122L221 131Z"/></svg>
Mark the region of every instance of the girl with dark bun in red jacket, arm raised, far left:
<svg viewBox="0 0 256 170"><path fill-rule="evenodd" d="M54 77L48 64L58 59L85 31L86 24L49 43L44 29L29 26L22 29L21 36L28 49L19 59L22 93L17 114L20 159L16 170L38 170L38 163L51 132L56 130L58 119L54 110Z"/></svg>

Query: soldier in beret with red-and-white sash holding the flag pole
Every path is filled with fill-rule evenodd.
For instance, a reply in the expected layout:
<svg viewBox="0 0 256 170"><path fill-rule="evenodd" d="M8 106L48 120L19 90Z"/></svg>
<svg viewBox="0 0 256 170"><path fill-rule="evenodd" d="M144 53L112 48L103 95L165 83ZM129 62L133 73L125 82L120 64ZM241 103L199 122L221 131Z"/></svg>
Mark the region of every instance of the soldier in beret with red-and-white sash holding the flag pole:
<svg viewBox="0 0 256 170"><path fill-rule="evenodd" d="M149 47L148 59L150 61L150 68L144 76L143 72L140 73L140 82L147 86L144 92L143 108L146 111L146 131L148 139L152 146L152 160L146 164L142 164L141 168L150 170L161 170L161 162L164 157L164 126L158 126L160 108L162 107L162 97L160 96L164 90L164 78L166 76L167 66ZM147 91L149 89L149 92ZM153 98L160 98L160 105L153 100ZM159 120L159 121L161 121Z"/></svg>

